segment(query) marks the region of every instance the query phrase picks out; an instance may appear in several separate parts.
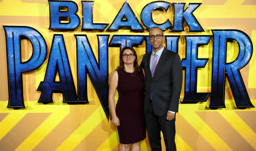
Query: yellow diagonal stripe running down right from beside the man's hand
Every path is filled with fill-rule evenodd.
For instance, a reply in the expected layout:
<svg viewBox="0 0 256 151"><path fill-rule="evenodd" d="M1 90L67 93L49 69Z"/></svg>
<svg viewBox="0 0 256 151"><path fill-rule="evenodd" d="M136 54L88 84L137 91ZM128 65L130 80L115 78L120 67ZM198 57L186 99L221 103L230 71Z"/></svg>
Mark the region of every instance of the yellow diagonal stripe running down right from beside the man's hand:
<svg viewBox="0 0 256 151"><path fill-rule="evenodd" d="M204 105L202 105L204 104ZM200 111L200 108L205 106L202 104L182 104L179 108L179 113L201 136L204 137L210 145L216 150L232 150L221 138L196 114L195 111Z"/></svg>

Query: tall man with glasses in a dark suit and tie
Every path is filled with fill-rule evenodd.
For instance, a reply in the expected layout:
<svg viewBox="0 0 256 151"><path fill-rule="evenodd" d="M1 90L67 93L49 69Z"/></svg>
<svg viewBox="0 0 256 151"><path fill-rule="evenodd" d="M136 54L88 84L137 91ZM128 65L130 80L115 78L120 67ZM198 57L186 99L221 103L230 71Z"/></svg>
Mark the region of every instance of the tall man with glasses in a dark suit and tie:
<svg viewBox="0 0 256 151"><path fill-rule="evenodd" d="M144 114L152 150L162 150L160 131L166 150L176 150L175 113L178 111L182 86L182 65L179 54L163 46L165 39L160 28L149 32L153 51L144 54L145 70Z"/></svg>

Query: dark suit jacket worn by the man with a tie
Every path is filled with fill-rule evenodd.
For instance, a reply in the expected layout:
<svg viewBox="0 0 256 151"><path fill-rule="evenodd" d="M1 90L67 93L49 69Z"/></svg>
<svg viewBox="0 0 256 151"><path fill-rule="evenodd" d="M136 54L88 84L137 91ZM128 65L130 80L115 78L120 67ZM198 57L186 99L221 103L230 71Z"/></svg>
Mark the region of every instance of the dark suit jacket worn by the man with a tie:
<svg viewBox="0 0 256 151"><path fill-rule="evenodd" d="M144 113L147 112L152 96L152 107L155 115L166 116L167 111L178 112L180 91L182 86L182 65L179 54L164 48L154 76L151 76L151 52L144 54L142 68L145 70L146 80L144 89Z"/></svg>

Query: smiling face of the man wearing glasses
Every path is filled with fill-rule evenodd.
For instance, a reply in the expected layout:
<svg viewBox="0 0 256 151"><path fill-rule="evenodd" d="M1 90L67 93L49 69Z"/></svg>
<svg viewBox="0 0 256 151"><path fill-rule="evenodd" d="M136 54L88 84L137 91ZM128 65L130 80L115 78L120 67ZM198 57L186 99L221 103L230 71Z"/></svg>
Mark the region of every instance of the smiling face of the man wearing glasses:
<svg viewBox="0 0 256 151"><path fill-rule="evenodd" d="M154 51L159 51L163 47L164 36L159 28L152 28L150 31L150 43ZM154 36L154 37L153 37Z"/></svg>

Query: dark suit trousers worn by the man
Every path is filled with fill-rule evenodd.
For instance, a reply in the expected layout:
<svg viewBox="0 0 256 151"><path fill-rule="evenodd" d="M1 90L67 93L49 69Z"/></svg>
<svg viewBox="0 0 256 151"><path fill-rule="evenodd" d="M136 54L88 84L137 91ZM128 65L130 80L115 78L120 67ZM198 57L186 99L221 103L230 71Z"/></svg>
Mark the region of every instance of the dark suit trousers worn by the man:
<svg viewBox="0 0 256 151"><path fill-rule="evenodd" d="M163 133L166 150L176 150L175 144L175 119L168 121L166 116L156 116L152 107L152 101L148 105L145 114L148 140L151 150L162 150L160 131Z"/></svg>

